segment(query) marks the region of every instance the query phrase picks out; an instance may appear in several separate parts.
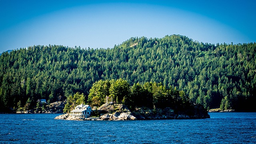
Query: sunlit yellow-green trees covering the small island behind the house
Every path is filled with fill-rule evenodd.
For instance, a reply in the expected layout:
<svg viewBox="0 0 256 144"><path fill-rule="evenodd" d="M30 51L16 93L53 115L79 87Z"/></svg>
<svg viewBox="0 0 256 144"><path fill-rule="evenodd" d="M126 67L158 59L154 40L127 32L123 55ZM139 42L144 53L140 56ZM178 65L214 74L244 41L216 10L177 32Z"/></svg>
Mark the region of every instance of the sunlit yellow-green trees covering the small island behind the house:
<svg viewBox="0 0 256 144"><path fill-rule="evenodd" d="M124 104L130 109L136 107L148 107L151 109L164 109L170 107L175 112L187 112L192 110L194 104L189 101L184 91L176 88L166 88L162 83L146 82L130 86L127 80L99 80L92 85L88 100L84 94L76 93L68 97L64 112L68 113L80 103L88 103L92 107L100 107L102 104L112 102Z"/></svg>

